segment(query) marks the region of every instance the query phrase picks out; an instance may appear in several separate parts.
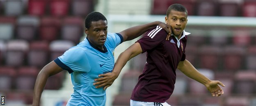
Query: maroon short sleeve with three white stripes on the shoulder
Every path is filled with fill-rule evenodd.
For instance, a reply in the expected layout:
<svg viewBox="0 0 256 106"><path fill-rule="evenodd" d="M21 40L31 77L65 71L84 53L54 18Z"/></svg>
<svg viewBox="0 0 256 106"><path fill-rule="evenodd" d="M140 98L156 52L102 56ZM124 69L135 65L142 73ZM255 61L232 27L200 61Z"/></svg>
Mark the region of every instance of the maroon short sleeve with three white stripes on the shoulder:
<svg viewBox="0 0 256 106"><path fill-rule="evenodd" d="M158 26L145 33L145 35L142 38L140 38L137 42L142 47L142 53L144 53L146 51L154 49L160 43L165 41L166 37L166 31Z"/></svg>

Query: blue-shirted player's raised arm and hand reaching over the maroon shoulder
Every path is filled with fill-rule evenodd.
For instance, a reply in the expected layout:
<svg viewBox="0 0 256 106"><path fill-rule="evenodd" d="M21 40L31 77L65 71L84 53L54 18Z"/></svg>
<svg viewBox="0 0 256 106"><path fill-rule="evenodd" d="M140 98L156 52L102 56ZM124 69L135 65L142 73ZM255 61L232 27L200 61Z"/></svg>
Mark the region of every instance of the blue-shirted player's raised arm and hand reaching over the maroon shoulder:
<svg viewBox="0 0 256 106"><path fill-rule="evenodd" d="M160 21L130 27L119 33L123 36L123 41L133 40L157 25L165 29L165 31L168 33L166 40L169 40L171 36L171 26Z"/></svg>

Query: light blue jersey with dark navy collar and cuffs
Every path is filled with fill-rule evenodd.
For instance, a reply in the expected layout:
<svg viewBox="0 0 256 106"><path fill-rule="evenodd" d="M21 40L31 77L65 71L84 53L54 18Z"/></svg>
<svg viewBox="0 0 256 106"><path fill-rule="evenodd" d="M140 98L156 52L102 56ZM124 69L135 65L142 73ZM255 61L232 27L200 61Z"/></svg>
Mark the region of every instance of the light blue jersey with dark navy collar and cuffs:
<svg viewBox="0 0 256 106"><path fill-rule="evenodd" d="M67 106L105 106L106 93L95 88L94 79L114 68L114 49L123 42L119 33L107 33L105 51L97 49L87 38L54 61L71 73L74 93Z"/></svg>

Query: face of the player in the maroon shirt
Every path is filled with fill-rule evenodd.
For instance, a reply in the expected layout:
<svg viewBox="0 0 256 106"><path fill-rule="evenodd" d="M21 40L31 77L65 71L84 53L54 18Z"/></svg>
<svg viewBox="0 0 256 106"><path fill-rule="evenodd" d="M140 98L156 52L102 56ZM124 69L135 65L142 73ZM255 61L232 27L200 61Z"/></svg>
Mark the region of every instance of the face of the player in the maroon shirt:
<svg viewBox="0 0 256 106"><path fill-rule="evenodd" d="M165 22L171 25L172 34L180 37L182 31L187 25L187 13L171 10L168 17L165 17Z"/></svg>

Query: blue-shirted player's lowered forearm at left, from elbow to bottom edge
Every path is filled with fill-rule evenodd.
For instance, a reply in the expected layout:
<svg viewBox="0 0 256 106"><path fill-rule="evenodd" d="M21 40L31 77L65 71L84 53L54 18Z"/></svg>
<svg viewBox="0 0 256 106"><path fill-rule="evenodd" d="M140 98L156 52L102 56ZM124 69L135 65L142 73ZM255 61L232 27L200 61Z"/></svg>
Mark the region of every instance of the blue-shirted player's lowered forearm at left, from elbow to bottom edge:
<svg viewBox="0 0 256 106"><path fill-rule="evenodd" d="M43 89L46 85L48 75L40 71L40 73L37 76L35 86L34 86L34 94L33 94L33 104L32 106L39 106L41 95L43 92Z"/></svg>

